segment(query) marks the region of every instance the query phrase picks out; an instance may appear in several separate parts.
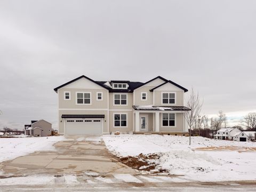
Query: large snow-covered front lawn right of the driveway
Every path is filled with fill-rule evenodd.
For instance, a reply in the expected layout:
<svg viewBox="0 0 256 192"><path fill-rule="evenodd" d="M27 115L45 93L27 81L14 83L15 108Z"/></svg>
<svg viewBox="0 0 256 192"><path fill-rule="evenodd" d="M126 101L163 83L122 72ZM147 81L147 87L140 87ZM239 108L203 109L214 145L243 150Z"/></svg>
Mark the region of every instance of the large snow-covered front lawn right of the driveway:
<svg viewBox="0 0 256 192"><path fill-rule="evenodd" d="M256 142L191 137L189 146L188 137L169 135L104 135L103 140L119 157L156 153L160 158L150 161L159 164L157 168L191 181L256 180L255 151L241 152L241 148L256 147ZM195 150L219 146L237 146L239 150Z"/></svg>

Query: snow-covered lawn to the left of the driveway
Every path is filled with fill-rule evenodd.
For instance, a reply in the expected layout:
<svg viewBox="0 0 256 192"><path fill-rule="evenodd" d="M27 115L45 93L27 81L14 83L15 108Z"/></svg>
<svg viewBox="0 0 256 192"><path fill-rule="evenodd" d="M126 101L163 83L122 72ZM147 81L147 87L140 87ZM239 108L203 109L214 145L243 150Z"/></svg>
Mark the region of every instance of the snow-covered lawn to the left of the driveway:
<svg viewBox="0 0 256 192"><path fill-rule="evenodd" d="M62 140L65 140L65 137L0 138L0 162L38 150L54 150L52 145Z"/></svg>

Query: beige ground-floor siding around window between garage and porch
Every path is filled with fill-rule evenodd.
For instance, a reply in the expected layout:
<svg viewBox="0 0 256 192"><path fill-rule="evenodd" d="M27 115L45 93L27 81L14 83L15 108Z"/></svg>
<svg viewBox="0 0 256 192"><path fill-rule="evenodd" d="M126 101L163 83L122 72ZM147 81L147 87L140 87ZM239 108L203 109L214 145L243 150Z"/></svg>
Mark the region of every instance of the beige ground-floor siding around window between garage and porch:
<svg viewBox="0 0 256 192"><path fill-rule="evenodd" d="M114 127L114 114L127 114L127 127ZM133 131L133 115L132 111L109 111L109 132L129 133Z"/></svg>

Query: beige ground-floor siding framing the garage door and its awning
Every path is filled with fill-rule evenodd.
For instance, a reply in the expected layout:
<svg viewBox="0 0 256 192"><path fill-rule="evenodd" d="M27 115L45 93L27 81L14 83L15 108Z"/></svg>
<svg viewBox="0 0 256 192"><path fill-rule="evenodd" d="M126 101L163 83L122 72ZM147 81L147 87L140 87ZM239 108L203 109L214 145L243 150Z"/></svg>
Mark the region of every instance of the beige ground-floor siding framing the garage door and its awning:
<svg viewBox="0 0 256 192"><path fill-rule="evenodd" d="M60 110L59 132L64 133L65 119L61 115L105 115L103 118L103 133L108 133L108 111L107 110Z"/></svg>

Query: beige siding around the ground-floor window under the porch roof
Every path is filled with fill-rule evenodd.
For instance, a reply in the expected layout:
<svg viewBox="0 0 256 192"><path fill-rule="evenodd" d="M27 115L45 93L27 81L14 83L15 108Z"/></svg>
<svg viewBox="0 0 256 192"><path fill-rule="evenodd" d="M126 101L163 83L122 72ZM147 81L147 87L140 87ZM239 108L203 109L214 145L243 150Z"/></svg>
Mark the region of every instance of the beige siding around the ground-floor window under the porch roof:
<svg viewBox="0 0 256 192"><path fill-rule="evenodd" d="M170 112L169 112L170 113ZM176 116L175 116L175 127L163 127L162 126L162 113L160 114L160 117L159 117L159 131L160 132L183 132L183 121L185 119L183 114L182 113L176 113Z"/></svg>

